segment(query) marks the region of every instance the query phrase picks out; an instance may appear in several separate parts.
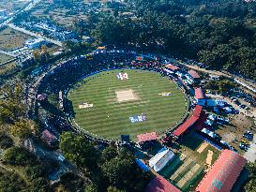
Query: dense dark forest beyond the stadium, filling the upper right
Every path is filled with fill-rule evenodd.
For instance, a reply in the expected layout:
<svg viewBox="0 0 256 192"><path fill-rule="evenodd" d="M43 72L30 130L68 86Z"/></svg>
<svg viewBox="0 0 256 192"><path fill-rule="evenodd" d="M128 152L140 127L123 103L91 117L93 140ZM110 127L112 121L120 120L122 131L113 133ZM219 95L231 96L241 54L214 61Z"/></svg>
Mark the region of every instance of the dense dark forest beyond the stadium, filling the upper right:
<svg viewBox="0 0 256 192"><path fill-rule="evenodd" d="M120 7L115 5L115 9ZM96 26L94 36L106 44L158 47L213 69L256 79L255 2L128 0L126 11L130 10L135 17L106 17Z"/></svg>

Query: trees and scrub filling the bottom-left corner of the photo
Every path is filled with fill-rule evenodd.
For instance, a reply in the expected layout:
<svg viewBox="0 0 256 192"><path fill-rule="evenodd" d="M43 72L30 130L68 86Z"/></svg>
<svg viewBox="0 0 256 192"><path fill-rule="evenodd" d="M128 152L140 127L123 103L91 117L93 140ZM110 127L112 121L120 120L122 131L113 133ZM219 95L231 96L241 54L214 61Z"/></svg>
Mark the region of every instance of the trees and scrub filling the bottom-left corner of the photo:
<svg viewBox="0 0 256 192"><path fill-rule="evenodd" d="M23 147L12 146L5 151L4 164L12 166L14 171L0 170L1 191L32 191L47 192L51 190L46 179L51 168L42 164L38 158ZM15 168L21 168L16 171ZM23 172L23 177L20 176ZM10 182L11 181L11 182Z"/></svg>

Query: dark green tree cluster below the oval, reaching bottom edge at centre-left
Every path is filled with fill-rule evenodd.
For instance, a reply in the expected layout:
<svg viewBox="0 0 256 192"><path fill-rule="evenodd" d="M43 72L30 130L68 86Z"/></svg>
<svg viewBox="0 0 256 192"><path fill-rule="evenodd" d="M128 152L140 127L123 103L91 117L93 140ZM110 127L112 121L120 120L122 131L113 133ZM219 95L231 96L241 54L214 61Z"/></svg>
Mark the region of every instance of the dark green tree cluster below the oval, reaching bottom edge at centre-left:
<svg viewBox="0 0 256 192"><path fill-rule="evenodd" d="M107 147L99 151L83 136L67 132L61 135L60 149L79 170L90 178L84 191L143 191L151 175L140 170L127 149Z"/></svg>

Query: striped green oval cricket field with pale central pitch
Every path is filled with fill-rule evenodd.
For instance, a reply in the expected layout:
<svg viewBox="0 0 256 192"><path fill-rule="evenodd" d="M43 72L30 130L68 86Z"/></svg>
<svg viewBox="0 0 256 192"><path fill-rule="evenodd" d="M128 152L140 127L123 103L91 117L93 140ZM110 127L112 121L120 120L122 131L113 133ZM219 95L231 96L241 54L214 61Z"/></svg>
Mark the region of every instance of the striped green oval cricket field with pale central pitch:
<svg viewBox="0 0 256 192"><path fill-rule="evenodd" d="M118 80L117 73L127 73L128 80ZM119 139L120 135L128 134L136 139L138 134L149 131L161 134L187 112L186 96L177 84L156 72L104 71L78 84L68 92L74 122L100 137ZM129 117L141 114L145 117L142 122L131 123Z"/></svg>

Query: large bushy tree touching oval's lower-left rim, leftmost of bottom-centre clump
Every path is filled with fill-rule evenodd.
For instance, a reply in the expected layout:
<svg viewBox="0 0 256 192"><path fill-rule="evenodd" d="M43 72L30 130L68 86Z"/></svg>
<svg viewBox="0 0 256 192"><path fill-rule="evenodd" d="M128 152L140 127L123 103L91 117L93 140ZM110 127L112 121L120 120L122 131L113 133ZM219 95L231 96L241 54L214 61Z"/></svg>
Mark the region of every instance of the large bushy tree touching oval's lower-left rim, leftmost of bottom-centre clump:
<svg viewBox="0 0 256 192"><path fill-rule="evenodd" d="M98 162L98 151L83 136L66 132L60 136L60 149L72 163L80 169L95 169Z"/></svg>

